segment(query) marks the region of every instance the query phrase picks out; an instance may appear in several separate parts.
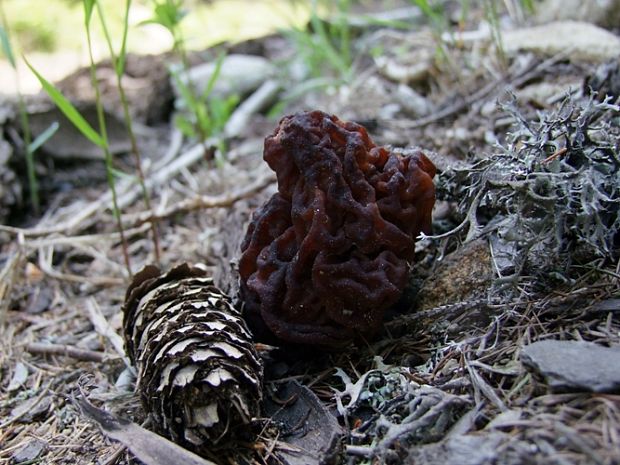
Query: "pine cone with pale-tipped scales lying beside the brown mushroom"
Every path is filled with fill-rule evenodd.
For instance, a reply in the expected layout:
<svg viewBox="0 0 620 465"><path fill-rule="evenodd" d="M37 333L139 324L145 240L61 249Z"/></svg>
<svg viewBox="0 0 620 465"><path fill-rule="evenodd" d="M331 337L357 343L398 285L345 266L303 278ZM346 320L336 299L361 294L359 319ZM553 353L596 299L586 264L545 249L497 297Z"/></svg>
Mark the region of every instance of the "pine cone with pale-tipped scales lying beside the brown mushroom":
<svg viewBox="0 0 620 465"><path fill-rule="evenodd" d="M145 267L123 313L138 390L159 433L201 453L258 415L261 359L240 313L205 271Z"/></svg>

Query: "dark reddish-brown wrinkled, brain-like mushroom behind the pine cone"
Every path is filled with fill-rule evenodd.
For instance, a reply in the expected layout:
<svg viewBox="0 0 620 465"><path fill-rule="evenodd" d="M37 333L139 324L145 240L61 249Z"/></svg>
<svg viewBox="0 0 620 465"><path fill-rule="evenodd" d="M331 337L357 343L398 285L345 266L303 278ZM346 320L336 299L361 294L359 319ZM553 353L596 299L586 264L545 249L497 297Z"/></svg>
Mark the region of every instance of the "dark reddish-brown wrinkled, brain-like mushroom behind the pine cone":
<svg viewBox="0 0 620 465"><path fill-rule="evenodd" d="M431 227L435 166L377 147L320 111L265 139L278 192L253 215L239 263L245 317L260 336L339 346L370 336L405 287Z"/></svg>

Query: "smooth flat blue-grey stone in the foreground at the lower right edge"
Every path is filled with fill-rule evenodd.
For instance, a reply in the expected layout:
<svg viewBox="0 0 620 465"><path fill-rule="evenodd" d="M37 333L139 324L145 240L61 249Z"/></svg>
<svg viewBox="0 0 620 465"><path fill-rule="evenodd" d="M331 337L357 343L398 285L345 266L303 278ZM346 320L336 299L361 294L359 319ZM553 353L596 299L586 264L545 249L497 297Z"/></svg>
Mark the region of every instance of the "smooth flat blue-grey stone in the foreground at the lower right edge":
<svg viewBox="0 0 620 465"><path fill-rule="evenodd" d="M620 393L620 346L538 341L523 347L521 361L556 391Z"/></svg>

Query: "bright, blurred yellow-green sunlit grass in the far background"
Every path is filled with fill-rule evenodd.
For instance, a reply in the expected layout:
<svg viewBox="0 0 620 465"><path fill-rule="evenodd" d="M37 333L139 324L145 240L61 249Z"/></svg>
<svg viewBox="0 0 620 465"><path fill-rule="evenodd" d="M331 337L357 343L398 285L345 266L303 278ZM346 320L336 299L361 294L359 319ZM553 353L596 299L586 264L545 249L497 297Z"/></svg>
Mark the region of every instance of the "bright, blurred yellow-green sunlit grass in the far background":
<svg viewBox="0 0 620 465"><path fill-rule="evenodd" d="M120 41L124 0L99 0L108 28ZM17 56L25 54L48 79L58 80L88 63L81 0L0 0ZM182 22L186 47L200 50L223 41L238 42L281 28L305 23L310 1L295 0L184 0L188 15ZM137 53L162 53L171 49L170 35L159 25L141 24L153 16L150 0L133 0L128 49ZM93 21L94 54L107 57L98 21ZM118 46L118 44L116 44ZM36 78L18 60L19 87L37 92ZM15 75L0 54L0 93L17 90Z"/></svg>

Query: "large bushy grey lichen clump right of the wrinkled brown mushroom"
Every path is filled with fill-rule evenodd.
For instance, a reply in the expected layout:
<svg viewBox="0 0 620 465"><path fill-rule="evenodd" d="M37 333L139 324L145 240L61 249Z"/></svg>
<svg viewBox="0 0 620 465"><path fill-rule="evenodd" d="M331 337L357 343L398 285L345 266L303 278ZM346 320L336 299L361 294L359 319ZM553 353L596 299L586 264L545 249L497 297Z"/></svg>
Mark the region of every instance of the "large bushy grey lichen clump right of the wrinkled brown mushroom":
<svg viewBox="0 0 620 465"><path fill-rule="evenodd" d="M454 232L489 234L503 282L570 280L579 265L617 259L620 107L567 96L537 121L514 100L503 107L515 120L506 144L440 178L464 216Z"/></svg>

